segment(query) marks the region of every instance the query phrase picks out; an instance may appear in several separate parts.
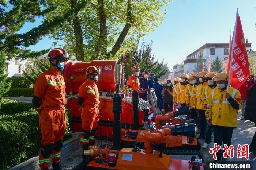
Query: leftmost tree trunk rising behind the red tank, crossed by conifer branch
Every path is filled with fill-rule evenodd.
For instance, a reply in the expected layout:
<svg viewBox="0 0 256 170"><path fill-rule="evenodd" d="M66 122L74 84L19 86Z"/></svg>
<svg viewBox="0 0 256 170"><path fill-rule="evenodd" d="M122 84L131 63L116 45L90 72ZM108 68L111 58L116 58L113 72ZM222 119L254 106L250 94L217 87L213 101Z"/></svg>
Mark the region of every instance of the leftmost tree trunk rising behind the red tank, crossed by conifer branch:
<svg viewBox="0 0 256 170"><path fill-rule="evenodd" d="M77 0L70 0L70 7L75 8ZM83 35L80 18L76 15L73 19L74 33L76 39L76 59L79 61L84 60L84 45L83 45Z"/></svg>

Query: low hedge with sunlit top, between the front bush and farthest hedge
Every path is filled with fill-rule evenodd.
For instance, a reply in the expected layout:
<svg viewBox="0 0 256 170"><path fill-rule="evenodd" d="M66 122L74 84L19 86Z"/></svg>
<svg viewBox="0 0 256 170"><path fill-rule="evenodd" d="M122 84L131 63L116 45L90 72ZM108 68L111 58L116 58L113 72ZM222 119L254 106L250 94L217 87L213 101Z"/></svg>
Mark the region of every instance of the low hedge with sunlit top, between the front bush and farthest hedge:
<svg viewBox="0 0 256 170"><path fill-rule="evenodd" d="M28 111L33 108L32 103L18 102L9 99L1 100L0 115L13 115L19 112Z"/></svg>

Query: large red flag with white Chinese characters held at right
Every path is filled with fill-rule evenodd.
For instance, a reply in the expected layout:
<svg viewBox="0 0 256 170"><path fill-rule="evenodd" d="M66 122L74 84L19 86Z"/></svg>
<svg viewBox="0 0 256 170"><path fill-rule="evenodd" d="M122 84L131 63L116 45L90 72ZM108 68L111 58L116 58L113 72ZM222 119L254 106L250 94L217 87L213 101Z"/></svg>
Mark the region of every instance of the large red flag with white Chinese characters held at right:
<svg viewBox="0 0 256 170"><path fill-rule="evenodd" d="M235 35L235 36L234 36ZM234 39L234 41L233 41ZM233 45L234 42L234 45ZM235 24L233 38L231 43L231 53L229 54L228 69L227 74L229 74L230 60L233 53L233 59L231 63L231 74L230 74L230 84L233 88L239 89L242 84L250 76L250 68L246 50L246 44L244 39L244 33L242 30L242 24L237 12L237 22Z"/></svg>

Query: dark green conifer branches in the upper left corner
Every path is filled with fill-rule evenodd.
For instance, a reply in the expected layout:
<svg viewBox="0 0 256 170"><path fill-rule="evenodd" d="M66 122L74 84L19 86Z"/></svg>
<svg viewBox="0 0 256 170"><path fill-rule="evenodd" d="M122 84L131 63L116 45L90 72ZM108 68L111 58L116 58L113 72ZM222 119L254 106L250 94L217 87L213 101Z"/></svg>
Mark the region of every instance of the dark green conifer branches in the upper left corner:
<svg viewBox="0 0 256 170"><path fill-rule="evenodd" d="M11 7L8 7L6 0L0 1L0 99L11 84L6 82L5 60L46 54L49 49L31 51L27 47L36 45L43 36L63 27L63 22L70 22L79 11L84 10L88 0L80 0L72 8L62 11L61 15L54 15L50 19L46 16L54 11L57 5L49 5L48 0L11 0L9 3ZM44 18L42 24L25 33L17 33L25 22L35 22L36 17Z"/></svg>

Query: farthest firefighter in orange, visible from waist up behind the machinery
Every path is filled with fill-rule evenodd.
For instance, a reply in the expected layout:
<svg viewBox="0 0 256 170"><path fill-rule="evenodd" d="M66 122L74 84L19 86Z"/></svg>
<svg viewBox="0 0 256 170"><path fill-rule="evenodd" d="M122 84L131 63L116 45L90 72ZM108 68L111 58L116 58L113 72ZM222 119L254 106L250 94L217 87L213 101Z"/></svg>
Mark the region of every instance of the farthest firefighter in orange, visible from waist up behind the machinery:
<svg viewBox="0 0 256 170"><path fill-rule="evenodd" d="M139 74L140 74L140 67L134 66L132 67L133 76L128 78L127 85L132 88L131 90L140 90L140 81L139 81Z"/></svg>

